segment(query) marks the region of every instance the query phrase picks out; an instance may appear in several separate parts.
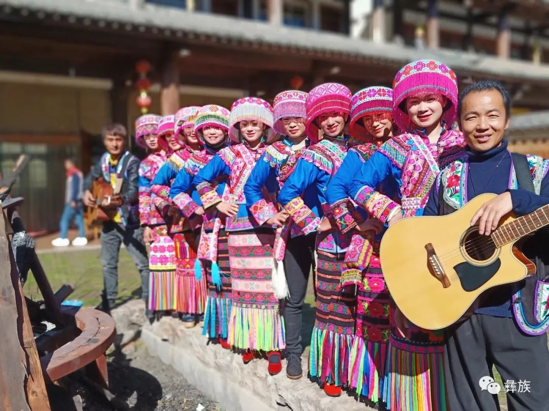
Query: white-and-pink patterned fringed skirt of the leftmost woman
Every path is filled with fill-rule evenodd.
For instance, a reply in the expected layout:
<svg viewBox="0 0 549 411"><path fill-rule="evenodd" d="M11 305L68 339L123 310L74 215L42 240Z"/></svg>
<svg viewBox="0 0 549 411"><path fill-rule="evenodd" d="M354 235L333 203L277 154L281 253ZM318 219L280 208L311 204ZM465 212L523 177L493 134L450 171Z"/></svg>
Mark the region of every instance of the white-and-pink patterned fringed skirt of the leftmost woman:
<svg viewBox="0 0 549 411"><path fill-rule="evenodd" d="M149 300L153 311L175 309L173 283L175 282L175 245L166 225L152 227L154 241L149 247Z"/></svg>

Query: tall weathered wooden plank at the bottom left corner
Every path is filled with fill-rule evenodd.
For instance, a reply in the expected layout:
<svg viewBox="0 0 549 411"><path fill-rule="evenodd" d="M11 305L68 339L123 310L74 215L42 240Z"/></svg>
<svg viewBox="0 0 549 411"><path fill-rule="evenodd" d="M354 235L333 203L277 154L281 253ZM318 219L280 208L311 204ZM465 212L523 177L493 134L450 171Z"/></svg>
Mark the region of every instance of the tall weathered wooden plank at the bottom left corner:
<svg viewBox="0 0 549 411"><path fill-rule="evenodd" d="M0 219L0 409L50 411L3 212Z"/></svg>

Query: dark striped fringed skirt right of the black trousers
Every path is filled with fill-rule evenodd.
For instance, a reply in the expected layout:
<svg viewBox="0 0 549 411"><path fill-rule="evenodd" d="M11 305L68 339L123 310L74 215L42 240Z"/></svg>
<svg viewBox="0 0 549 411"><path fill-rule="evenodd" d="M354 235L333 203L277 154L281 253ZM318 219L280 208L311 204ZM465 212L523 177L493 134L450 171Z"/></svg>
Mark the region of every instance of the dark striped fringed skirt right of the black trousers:
<svg viewBox="0 0 549 411"><path fill-rule="evenodd" d="M333 255L321 250L317 254L316 321L311 336L309 373L320 384L346 386L355 334L356 296L354 290L347 292L340 286L345 254Z"/></svg>

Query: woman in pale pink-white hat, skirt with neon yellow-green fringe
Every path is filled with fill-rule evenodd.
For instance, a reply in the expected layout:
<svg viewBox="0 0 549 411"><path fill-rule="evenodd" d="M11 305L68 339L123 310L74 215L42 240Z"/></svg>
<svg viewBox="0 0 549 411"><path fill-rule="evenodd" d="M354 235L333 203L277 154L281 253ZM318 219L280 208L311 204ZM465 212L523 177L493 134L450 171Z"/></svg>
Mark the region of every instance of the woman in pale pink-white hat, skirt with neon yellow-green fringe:
<svg viewBox="0 0 549 411"><path fill-rule="evenodd" d="M244 195L251 171L276 135L273 109L265 100L247 97L233 103L230 118L229 134L237 144L220 150L194 184L204 208L226 216L232 286L228 343L243 353L244 363L266 352L268 372L274 375L282 369L284 349L284 323L271 284L275 231L248 213ZM229 182L220 196L215 181L222 175Z"/></svg>

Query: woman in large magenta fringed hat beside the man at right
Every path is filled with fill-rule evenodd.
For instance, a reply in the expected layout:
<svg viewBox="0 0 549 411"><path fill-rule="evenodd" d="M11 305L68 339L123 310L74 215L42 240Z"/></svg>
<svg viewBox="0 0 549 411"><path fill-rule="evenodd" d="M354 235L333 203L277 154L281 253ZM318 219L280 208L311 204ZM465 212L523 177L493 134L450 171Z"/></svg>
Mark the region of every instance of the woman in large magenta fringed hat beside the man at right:
<svg viewBox="0 0 549 411"><path fill-rule="evenodd" d="M349 187L349 196L368 214L391 226L422 215L430 187L441 165L464 145L451 129L457 110L457 81L439 61L411 62L393 83L393 117L404 134L385 142L362 165ZM385 179L399 185L399 197L379 191ZM406 272L402 273L403 278ZM382 278L372 287L383 289ZM418 301L421 304L421 301ZM391 305L391 331L382 399L391 410L446 410L442 368L444 335L408 324Z"/></svg>

